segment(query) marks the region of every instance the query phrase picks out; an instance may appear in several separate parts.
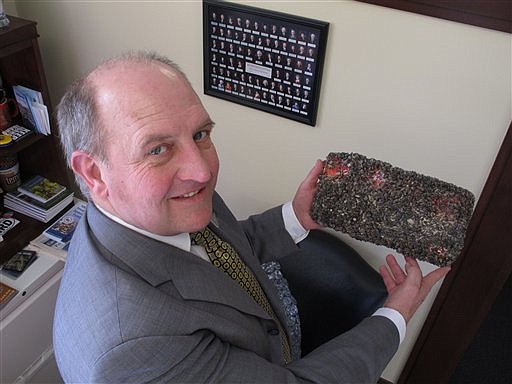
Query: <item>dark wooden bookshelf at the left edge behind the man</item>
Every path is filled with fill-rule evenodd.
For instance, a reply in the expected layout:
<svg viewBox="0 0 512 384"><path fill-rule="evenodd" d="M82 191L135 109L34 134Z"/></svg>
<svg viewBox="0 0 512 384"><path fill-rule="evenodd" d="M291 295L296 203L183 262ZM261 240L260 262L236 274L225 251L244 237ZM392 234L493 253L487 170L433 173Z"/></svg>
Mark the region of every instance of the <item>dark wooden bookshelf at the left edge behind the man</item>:
<svg viewBox="0 0 512 384"><path fill-rule="evenodd" d="M0 75L3 87L11 98L14 98L13 85L24 85L40 91L50 115L52 134L30 135L12 146L0 148L0 157L16 154L22 179L40 174L75 189L59 146L57 125L52 119L52 105L38 44L37 23L14 16L8 17L9 26L0 29ZM16 123L21 124L21 121ZM3 196L0 211L5 211ZM0 243L0 264L7 261L50 225L17 212L14 217L20 223L7 232L4 235L4 241Z"/></svg>

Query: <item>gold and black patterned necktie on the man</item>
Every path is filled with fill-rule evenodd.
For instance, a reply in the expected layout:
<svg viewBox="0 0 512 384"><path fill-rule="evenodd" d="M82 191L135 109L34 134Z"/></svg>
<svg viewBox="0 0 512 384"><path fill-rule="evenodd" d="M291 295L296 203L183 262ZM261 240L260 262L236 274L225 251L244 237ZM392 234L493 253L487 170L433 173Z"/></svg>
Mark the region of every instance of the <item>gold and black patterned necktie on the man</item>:
<svg viewBox="0 0 512 384"><path fill-rule="evenodd" d="M235 249L229 243L218 237L208 227L200 232L191 233L190 238L193 244L200 245L205 249L206 254L214 266L236 281L274 320L279 328L285 363L290 363L291 352L286 332L272 309L260 283L249 267L242 261Z"/></svg>

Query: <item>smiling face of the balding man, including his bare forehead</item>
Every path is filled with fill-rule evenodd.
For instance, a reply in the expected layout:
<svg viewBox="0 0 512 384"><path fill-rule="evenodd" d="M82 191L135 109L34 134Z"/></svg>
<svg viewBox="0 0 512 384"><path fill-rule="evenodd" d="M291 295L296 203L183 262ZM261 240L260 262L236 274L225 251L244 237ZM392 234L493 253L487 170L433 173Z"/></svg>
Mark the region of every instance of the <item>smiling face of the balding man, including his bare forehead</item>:
<svg viewBox="0 0 512 384"><path fill-rule="evenodd" d="M214 124L195 92L157 64L128 64L99 84L108 161L99 164L104 184L94 201L160 235L205 227L219 161Z"/></svg>

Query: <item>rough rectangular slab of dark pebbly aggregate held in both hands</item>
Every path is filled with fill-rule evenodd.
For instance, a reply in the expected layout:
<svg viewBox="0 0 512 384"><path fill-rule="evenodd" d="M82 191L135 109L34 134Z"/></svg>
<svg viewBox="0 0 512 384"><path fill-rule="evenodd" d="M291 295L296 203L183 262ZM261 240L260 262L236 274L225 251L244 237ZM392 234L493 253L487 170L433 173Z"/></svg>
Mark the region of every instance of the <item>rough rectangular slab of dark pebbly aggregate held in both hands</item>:
<svg viewBox="0 0 512 384"><path fill-rule="evenodd" d="M358 153L329 153L317 187L318 223L437 266L460 254L475 202L464 188Z"/></svg>

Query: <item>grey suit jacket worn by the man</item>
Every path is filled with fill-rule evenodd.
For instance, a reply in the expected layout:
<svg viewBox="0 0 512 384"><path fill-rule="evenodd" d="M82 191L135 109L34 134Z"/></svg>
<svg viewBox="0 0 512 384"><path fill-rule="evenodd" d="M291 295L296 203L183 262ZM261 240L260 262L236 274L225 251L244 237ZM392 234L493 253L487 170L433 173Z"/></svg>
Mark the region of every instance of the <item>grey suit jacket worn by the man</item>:
<svg viewBox="0 0 512 384"><path fill-rule="evenodd" d="M214 210L215 230L253 270L282 320L275 288L260 268L297 249L280 207L237 222L215 195ZM374 316L285 366L275 331L213 265L89 204L55 312L54 350L66 382L375 382L398 347L396 327Z"/></svg>

